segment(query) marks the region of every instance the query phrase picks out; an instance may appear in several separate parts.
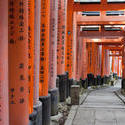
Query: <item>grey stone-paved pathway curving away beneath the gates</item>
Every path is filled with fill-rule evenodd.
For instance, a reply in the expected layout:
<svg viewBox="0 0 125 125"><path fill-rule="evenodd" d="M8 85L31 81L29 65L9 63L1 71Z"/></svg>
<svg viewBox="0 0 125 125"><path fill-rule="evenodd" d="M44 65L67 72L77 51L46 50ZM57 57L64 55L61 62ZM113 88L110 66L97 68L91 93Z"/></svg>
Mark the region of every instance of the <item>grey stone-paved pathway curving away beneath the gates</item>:
<svg viewBox="0 0 125 125"><path fill-rule="evenodd" d="M117 89L115 86L91 92L78 107L72 125L125 125L125 105L114 94Z"/></svg>

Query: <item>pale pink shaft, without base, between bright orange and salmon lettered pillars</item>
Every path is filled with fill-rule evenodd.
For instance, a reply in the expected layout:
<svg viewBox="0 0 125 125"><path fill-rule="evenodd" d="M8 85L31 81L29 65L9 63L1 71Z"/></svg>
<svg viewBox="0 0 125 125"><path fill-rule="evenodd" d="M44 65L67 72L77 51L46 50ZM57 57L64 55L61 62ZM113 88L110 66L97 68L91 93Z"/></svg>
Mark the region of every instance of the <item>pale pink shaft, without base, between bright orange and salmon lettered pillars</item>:
<svg viewBox="0 0 125 125"><path fill-rule="evenodd" d="M56 88L58 0L50 2L49 90Z"/></svg>

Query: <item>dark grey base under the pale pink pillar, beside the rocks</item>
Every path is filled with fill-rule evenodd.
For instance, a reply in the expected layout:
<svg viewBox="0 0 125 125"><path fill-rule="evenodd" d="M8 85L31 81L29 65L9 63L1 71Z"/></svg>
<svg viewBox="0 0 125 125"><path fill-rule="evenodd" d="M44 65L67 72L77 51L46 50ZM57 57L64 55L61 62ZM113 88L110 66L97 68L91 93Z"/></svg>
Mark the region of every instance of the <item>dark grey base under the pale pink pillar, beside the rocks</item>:
<svg viewBox="0 0 125 125"><path fill-rule="evenodd" d="M58 114L59 91L58 88L49 90L51 94L51 116Z"/></svg>

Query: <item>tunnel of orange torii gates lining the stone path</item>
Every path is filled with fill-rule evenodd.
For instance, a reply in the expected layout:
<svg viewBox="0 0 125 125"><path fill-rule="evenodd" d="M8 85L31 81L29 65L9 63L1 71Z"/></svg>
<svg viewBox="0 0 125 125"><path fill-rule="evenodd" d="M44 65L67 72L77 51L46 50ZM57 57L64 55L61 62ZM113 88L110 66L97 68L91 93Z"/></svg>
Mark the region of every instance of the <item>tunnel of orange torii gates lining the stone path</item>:
<svg viewBox="0 0 125 125"><path fill-rule="evenodd" d="M58 91L65 101L69 82L77 84L89 73L117 73L125 89L125 16L106 16L114 10L125 10L125 3L0 0L0 125L49 125ZM82 31L86 25L99 31ZM105 31L105 25L123 27Z"/></svg>

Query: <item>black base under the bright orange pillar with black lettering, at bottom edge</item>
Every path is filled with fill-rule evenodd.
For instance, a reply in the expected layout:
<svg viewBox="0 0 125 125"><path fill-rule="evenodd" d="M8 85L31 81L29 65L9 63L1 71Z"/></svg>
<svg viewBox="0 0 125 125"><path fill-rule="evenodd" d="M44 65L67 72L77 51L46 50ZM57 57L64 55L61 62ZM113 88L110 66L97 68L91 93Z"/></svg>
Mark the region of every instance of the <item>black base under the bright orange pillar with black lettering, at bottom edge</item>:
<svg viewBox="0 0 125 125"><path fill-rule="evenodd" d="M42 125L50 125L51 117L51 96L41 96L40 101L42 102Z"/></svg>

